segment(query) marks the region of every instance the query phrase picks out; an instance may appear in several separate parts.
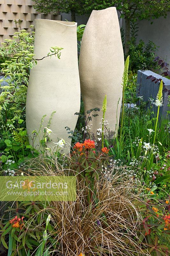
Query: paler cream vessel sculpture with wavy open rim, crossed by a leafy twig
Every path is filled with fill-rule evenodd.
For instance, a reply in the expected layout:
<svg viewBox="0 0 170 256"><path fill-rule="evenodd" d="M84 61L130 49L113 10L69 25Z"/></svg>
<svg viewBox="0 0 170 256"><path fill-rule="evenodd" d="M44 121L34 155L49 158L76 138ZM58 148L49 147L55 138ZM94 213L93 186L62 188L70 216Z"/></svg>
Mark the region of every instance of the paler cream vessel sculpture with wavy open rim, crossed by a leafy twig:
<svg viewBox="0 0 170 256"><path fill-rule="evenodd" d="M31 70L26 100L26 127L28 135L39 131L43 115L47 115L41 128L40 139L53 111L48 147L54 149L61 138L66 141L65 152L70 150L71 139L65 126L75 129L80 109L80 81L77 57L77 23L58 20L35 20L35 59L41 59L50 52L50 47L62 47L60 60L52 56L38 61ZM32 139L30 138L32 145ZM38 149L40 141L34 142Z"/></svg>

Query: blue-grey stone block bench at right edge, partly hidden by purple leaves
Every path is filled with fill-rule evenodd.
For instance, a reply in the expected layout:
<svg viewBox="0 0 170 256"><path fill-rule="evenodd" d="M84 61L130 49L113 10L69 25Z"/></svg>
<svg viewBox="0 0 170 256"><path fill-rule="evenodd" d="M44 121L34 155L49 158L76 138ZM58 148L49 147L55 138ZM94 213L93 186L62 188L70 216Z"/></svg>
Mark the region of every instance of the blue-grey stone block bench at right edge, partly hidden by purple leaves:
<svg viewBox="0 0 170 256"><path fill-rule="evenodd" d="M158 79L163 80L163 106L160 107L160 115L164 118L167 117L167 111L170 111L170 107L168 107L168 97L170 93L170 79L167 79L166 77L160 76L150 70L138 70L137 72L137 96L143 96L143 100L147 102L146 108L149 108L151 106L151 102L149 101L149 98L152 98L153 100L156 99L156 96L159 91L159 84L160 82L155 82L151 79L148 79L148 76L153 76ZM157 114L158 107L153 105L153 111L154 114ZM168 115L170 118L170 114Z"/></svg>

